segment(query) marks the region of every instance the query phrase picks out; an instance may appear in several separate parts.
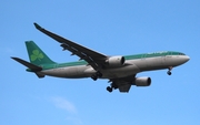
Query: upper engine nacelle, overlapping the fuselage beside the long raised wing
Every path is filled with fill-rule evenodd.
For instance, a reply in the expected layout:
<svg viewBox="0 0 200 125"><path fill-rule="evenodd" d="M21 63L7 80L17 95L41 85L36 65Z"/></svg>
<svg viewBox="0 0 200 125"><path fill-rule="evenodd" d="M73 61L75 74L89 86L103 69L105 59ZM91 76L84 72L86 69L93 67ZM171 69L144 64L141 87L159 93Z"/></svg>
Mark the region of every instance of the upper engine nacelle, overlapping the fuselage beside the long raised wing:
<svg viewBox="0 0 200 125"><path fill-rule="evenodd" d="M121 66L124 64L124 58L119 55L109 58L106 63L108 63L110 66Z"/></svg>

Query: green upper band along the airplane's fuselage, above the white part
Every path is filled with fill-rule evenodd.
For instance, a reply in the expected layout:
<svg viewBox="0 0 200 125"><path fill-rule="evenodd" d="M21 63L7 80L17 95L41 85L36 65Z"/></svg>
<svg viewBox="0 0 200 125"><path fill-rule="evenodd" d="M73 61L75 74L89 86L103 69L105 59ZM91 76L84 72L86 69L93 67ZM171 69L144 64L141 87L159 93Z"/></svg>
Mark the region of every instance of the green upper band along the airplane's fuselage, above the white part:
<svg viewBox="0 0 200 125"><path fill-rule="evenodd" d="M137 59L147 59L147 58L157 58L157 56L166 56L166 55L184 55L181 52L176 51L162 51L162 52L152 52L152 53L143 53L143 54L133 54L133 55L126 55L126 60L137 60ZM50 69L58 69L58 67L66 67L66 66L79 66L79 65L87 65L86 61L77 61L77 62L68 62L68 63L54 63L54 64L43 64L43 70ZM27 71L30 71L29 69Z"/></svg>

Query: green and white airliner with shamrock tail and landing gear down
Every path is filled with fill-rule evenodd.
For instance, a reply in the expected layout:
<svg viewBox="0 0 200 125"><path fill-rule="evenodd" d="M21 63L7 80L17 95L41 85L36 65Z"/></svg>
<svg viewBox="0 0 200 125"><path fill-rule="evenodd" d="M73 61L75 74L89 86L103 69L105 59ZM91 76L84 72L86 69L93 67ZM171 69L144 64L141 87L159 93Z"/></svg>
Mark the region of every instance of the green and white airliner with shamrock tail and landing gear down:
<svg viewBox="0 0 200 125"><path fill-rule="evenodd" d="M30 62L13 56L11 59L27 66L28 72L36 73L40 79L46 75L64 79L91 77L93 81L108 79L108 92L118 88L122 93L128 93L131 85L151 84L151 77L137 77L138 73L167 69L167 74L171 75L173 67L190 60L188 55L177 51L110 56L52 33L37 23L33 24L37 30L58 41L63 51L68 50L71 55L80 58L76 62L56 63L33 41L26 41Z"/></svg>

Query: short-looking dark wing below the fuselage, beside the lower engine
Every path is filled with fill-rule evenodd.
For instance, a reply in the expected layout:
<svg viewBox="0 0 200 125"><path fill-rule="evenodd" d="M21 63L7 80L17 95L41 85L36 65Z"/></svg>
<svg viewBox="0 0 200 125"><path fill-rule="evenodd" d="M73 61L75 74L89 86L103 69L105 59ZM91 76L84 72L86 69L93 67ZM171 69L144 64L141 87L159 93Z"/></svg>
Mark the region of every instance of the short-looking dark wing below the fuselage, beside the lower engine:
<svg viewBox="0 0 200 125"><path fill-rule="evenodd" d="M112 86L116 86L117 88L119 88L120 92L128 93L136 79L134 76L136 75L121 77L121 79L112 79L110 80L110 82L112 82Z"/></svg>

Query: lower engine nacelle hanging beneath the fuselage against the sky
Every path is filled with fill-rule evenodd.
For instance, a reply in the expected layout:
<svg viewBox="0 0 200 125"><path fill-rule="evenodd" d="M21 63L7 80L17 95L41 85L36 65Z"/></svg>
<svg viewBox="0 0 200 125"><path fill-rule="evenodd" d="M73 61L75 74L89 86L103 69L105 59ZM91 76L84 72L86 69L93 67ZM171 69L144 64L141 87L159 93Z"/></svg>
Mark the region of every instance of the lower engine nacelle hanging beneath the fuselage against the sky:
<svg viewBox="0 0 200 125"><path fill-rule="evenodd" d="M136 77L134 84L137 86L149 86L151 84L151 77Z"/></svg>

